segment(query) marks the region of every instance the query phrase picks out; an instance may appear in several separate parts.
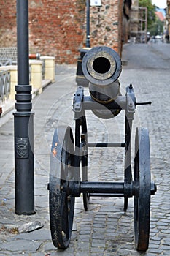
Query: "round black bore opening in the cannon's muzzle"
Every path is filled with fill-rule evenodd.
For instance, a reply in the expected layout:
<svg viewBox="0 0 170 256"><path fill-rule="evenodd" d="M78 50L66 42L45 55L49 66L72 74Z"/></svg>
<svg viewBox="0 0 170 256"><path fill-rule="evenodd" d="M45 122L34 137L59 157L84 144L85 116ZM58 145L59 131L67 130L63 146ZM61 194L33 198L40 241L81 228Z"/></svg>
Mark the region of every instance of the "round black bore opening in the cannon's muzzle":
<svg viewBox="0 0 170 256"><path fill-rule="evenodd" d="M100 74L107 73L110 69L110 61L105 57L98 57L93 61L93 69Z"/></svg>

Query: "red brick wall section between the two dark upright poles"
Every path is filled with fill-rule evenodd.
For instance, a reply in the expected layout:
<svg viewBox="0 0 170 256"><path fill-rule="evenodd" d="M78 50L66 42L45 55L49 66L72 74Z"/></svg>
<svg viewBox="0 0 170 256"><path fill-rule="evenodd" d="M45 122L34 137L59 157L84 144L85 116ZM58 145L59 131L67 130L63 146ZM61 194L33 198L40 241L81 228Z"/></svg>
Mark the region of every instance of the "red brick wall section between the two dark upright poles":
<svg viewBox="0 0 170 256"><path fill-rule="evenodd" d="M85 1L34 0L29 5L31 50L55 56L58 63L75 63L85 33Z"/></svg>

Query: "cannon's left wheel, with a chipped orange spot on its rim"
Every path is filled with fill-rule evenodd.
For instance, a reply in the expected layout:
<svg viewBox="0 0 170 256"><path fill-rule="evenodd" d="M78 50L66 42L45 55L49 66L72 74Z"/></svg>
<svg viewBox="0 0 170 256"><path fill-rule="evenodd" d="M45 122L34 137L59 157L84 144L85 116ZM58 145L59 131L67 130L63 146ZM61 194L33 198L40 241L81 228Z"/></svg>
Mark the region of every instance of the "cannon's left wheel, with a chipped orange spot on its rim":
<svg viewBox="0 0 170 256"><path fill-rule="evenodd" d="M69 182L74 181L74 141L70 127L58 127L53 135L50 155L50 229L58 249L69 246L74 219L74 197Z"/></svg>

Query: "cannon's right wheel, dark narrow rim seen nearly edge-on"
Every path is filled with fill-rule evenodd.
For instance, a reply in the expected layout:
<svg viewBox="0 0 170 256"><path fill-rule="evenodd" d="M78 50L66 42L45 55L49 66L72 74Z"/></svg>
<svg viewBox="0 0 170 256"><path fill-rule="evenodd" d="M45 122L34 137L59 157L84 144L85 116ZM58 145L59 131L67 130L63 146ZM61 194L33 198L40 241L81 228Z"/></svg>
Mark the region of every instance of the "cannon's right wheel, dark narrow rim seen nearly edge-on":
<svg viewBox="0 0 170 256"><path fill-rule="evenodd" d="M136 129L134 181L139 195L134 196L134 231L138 251L146 251L150 236L150 139L148 130Z"/></svg>

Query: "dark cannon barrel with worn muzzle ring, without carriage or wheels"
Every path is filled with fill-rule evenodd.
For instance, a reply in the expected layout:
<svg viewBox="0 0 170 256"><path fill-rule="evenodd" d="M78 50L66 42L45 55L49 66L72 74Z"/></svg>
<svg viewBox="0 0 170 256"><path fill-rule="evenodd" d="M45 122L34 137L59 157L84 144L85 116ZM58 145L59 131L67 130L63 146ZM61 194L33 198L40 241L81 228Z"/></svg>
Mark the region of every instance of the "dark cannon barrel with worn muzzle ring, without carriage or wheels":
<svg viewBox="0 0 170 256"><path fill-rule="evenodd" d="M109 104L120 96L119 76L122 70L121 59L112 48L98 46L92 48L82 59L82 71L89 81L91 97L103 105ZM112 118L120 110L93 110L100 118Z"/></svg>

